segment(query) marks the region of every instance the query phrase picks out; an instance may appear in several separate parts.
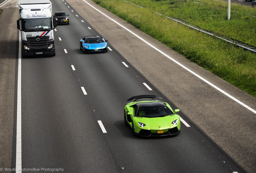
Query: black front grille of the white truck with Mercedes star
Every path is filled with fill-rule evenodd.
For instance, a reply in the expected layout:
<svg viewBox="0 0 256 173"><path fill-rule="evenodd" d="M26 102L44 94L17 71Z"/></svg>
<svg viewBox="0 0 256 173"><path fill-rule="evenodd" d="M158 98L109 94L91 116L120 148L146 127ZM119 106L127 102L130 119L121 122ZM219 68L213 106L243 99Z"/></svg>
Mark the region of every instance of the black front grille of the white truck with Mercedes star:
<svg viewBox="0 0 256 173"><path fill-rule="evenodd" d="M39 40L36 40L40 38ZM44 48L49 46L49 36L27 37L27 44L31 48Z"/></svg>

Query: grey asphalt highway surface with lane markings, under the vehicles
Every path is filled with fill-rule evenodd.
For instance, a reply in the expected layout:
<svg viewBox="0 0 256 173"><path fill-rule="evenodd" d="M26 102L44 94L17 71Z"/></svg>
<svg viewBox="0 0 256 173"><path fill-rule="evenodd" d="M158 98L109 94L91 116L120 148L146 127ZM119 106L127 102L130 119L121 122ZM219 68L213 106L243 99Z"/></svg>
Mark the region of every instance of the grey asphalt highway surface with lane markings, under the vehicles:
<svg viewBox="0 0 256 173"><path fill-rule="evenodd" d="M54 12L65 11L70 15L70 24L60 25L54 32L56 56L20 58L21 67L18 66L19 32L15 28L18 9L7 6L0 16L1 22L10 14L13 20L10 26L0 26L1 31L10 28L4 35L5 41L1 41L1 46L8 50L1 50L1 64L10 60L15 66L15 77L14 69L1 68L4 71L1 77L7 76L3 80L9 76L12 80L6 83L14 86L6 96L11 104L0 102L10 109L6 111L8 121L1 119L2 125L9 129L7 137L5 133L0 134L10 139L9 145L1 148L8 149L1 153L6 155L1 156L1 168L15 168L19 162L23 172L31 173L57 172L57 169L66 173L255 171L255 113L173 60L253 110L256 109L254 97L91 1L54 0L52 5ZM102 35L109 40L108 52L83 54L79 40L86 35ZM150 45L174 59L170 60ZM20 141L16 139L18 68L21 69ZM6 85L1 85L1 93L9 88ZM124 125L123 109L128 98L142 94L163 97L162 101L181 110L179 115L184 121L179 135L149 139L132 135L131 129ZM16 152L19 142L21 159Z"/></svg>

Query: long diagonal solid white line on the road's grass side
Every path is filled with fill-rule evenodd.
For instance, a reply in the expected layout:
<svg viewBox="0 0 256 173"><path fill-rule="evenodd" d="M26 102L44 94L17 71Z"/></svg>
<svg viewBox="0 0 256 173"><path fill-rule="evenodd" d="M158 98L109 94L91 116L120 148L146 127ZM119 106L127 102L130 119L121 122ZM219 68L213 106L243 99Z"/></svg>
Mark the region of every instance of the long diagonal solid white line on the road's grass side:
<svg viewBox="0 0 256 173"><path fill-rule="evenodd" d="M218 91L220 91L221 93L225 94L227 97L233 99L234 97L231 97L229 94L227 94L225 91L221 90L219 87L215 86L214 84L212 84L211 82L209 82L208 80L202 78L201 76L199 76L198 74L196 74L195 72L193 72L192 70L190 70L189 68L187 68L186 66L182 65L180 62L174 60L173 58L171 58L169 55L165 54L164 52L162 52L161 50L159 50L158 48L156 48L155 46L153 46L152 44L150 44L149 42L147 42L146 40L144 40L143 38L141 38L140 36L138 36L137 34L135 34L134 32L132 32L131 30L129 30L128 28L122 26L120 23L116 22L116 20L110 18L109 16L107 16L106 14L104 14L103 12L101 12L100 10L98 10L97 8L95 8L94 6L92 6L91 4L89 4L88 2L86 2L85 0L83 0L85 3L87 3L89 6L91 6L92 8L94 8L95 10L97 10L98 12L100 12L101 14L103 14L104 16L106 16L107 18L109 18L110 20L112 20L113 22L115 22L116 24L118 24L119 26L121 26L122 28L126 29L128 32L130 32L131 34L133 34L134 36L136 36L137 38L139 38L140 40L142 40L143 42L145 42L146 44L148 44L149 46L151 46L152 48L154 48L155 50L157 50L158 52L160 52L161 54L163 54L164 56L166 56L167 58L169 58L170 60L172 60L173 62L175 62L176 64L178 64L179 66L181 66L182 68L188 70L190 73L194 74L196 77L200 78L201 80L203 80L204 82L206 82L207 84L211 85L213 88L217 89ZM237 99L233 99L235 102L237 102ZM249 109L250 111L252 111L253 113L256 114L256 111L252 108L250 108L249 106L245 105L242 102L237 102L240 105L244 106L245 108ZM242 103L242 104L241 104Z"/></svg>

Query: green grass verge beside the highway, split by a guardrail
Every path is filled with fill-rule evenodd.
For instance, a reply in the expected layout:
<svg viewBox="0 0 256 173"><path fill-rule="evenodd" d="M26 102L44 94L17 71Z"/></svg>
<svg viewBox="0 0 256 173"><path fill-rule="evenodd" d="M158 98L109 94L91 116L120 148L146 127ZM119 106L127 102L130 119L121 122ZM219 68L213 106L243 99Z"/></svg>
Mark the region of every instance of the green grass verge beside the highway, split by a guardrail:
<svg viewBox="0 0 256 173"><path fill-rule="evenodd" d="M192 62L256 97L256 54L178 24L176 17L201 28L256 46L256 8L221 0L93 0ZM155 14L161 13L163 16Z"/></svg>

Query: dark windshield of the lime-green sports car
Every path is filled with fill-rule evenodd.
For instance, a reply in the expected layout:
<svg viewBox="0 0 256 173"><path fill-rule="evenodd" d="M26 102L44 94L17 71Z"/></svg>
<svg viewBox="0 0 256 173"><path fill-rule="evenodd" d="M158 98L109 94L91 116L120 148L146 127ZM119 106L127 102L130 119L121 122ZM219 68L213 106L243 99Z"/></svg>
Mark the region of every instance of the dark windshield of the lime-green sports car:
<svg viewBox="0 0 256 173"><path fill-rule="evenodd" d="M173 112L167 106L156 107L140 107L138 109L137 117L165 117L167 115L173 115Z"/></svg>

